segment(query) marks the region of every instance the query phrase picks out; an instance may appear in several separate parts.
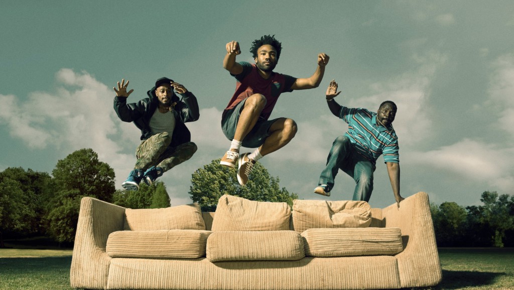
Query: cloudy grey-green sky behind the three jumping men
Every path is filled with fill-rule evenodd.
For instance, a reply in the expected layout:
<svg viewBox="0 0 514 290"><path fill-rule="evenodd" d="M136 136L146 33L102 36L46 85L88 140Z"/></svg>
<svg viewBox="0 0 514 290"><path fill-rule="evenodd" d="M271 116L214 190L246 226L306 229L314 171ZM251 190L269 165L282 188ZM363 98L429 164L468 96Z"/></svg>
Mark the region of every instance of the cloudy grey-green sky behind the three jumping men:
<svg viewBox="0 0 514 290"><path fill-rule="evenodd" d="M193 92L200 118L188 123L198 151L165 173L171 205L191 203L191 175L230 146L221 115L235 89L222 67L225 45L252 62L251 42L282 42L276 72L309 77L330 60L318 88L284 93L271 118L289 117L296 137L260 162L301 199L348 200L355 182L340 172L332 196L313 193L332 142L347 125L339 104L376 111L398 106L401 195L481 204L484 191L514 194L514 2L512 1L2 1L0 170L51 174L92 148L121 189L140 131L120 121L113 87L130 80L133 103L160 77ZM248 149L250 151L250 149ZM395 202L383 158L372 207Z"/></svg>

